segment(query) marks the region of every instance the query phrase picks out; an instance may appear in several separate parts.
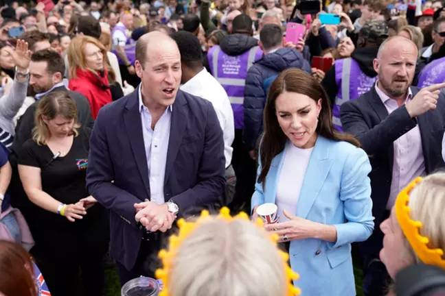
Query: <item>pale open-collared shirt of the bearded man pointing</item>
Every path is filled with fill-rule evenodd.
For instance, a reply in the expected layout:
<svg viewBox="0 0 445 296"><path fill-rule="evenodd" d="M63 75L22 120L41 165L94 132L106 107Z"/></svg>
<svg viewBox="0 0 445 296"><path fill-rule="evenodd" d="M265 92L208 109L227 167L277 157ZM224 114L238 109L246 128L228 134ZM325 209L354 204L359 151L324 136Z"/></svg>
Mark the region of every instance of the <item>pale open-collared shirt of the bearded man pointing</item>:
<svg viewBox="0 0 445 296"><path fill-rule="evenodd" d="M399 106L397 101L389 98L378 88L376 83L376 92L382 100L388 114L391 114ZM411 88L407 95L407 101L412 97ZM415 177L425 174L425 161L423 156L422 138L420 137L419 125L409 132L403 134L393 143L393 171L391 180L391 191L387 202L387 210L391 210L396 197L400 191L411 182Z"/></svg>

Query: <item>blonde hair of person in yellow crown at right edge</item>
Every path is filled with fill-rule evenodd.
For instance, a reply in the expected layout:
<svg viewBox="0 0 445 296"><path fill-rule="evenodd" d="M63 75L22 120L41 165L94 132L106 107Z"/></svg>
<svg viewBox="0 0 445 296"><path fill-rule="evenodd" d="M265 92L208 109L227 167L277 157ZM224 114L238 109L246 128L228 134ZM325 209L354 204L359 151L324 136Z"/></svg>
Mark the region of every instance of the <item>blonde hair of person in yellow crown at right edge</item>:
<svg viewBox="0 0 445 296"><path fill-rule="evenodd" d="M422 222L420 234L429 238L429 248L445 251L445 172L433 173L409 195L410 216Z"/></svg>

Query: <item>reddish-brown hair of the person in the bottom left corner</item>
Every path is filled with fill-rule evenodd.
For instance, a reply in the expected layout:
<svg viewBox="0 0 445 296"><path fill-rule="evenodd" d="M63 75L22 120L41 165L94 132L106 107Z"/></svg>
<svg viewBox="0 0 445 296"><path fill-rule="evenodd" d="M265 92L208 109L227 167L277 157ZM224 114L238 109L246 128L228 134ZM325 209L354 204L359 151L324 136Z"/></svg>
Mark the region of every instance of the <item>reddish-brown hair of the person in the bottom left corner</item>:
<svg viewBox="0 0 445 296"><path fill-rule="evenodd" d="M0 240L0 291L5 295L37 296L30 254L17 245Z"/></svg>

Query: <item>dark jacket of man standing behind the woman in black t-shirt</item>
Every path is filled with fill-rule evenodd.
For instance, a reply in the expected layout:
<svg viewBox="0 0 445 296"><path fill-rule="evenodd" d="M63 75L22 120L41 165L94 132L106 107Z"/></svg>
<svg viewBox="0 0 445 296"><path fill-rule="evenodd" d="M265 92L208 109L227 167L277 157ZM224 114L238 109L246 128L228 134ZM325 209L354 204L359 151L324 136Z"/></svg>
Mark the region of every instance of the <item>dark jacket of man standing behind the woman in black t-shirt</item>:
<svg viewBox="0 0 445 296"><path fill-rule="evenodd" d="M78 108L78 123L83 127L93 128L93 116L91 116L91 108L89 106L88 100L84 95L78 92L67 90L65 86L60 86L54 88L53 91L67 91L69 96L76 101ZM36 113L38 101L32 103L30 107L27 108L25 113L20 117L16 126L16 134L14 136L14 144L12 150L16 151L19 149L26 140L32 137L32 129L34 128L34 114Z"/></svg>

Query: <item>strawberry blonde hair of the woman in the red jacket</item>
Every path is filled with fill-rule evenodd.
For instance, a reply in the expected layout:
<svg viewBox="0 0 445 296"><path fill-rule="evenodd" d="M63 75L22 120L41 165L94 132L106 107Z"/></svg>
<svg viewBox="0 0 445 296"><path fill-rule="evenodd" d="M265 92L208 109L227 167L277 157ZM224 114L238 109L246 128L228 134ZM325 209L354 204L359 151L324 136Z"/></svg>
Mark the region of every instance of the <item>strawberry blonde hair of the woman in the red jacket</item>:
<svg viewBox="0 0 445 296"><path fill-rule="evenodd" d="M106 49L104 45L102 45L102 43L100 43L98 39L91 36L76 36L71 40L71 43L69 44L67 50L70 79L76 79L77 69L81 69L83 71L88 70L96 74L96 71L87 66L87 59L84 56L84 48L88 43L99 47L104 59L104 69L106 71L112 72L110 71L110 62L106 55ZM114 73L111 80L114 82Z"/></svg>

